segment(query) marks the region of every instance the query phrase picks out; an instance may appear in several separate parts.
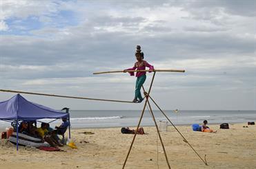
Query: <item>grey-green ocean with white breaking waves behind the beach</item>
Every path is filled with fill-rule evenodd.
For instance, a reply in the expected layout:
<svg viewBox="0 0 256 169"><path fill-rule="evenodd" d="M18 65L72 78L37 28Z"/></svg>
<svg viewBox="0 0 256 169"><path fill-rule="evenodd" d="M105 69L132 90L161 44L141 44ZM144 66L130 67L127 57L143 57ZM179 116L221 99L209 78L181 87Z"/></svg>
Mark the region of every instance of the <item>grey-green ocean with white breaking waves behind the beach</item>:
<svg viewBox="0 0 256 169"><path fill-rule="evenodd" d="M153 111L157 122L168 121L161 111ZM175 125L201 124L208 120L208 124L221 123L247 123L256 121L256 111L164 111L167 117ZM70 110L70 123L72 128L106 128L137 126L141 111L139 110ZM52 120L39 120L51 122ZM52 122L50 125L61 124L61 120ZM168 122L170 125L170 123ZM141 126L154 126L150 113L145 111ZM10 126L9 122L0 121L0 128Z"/></svg>

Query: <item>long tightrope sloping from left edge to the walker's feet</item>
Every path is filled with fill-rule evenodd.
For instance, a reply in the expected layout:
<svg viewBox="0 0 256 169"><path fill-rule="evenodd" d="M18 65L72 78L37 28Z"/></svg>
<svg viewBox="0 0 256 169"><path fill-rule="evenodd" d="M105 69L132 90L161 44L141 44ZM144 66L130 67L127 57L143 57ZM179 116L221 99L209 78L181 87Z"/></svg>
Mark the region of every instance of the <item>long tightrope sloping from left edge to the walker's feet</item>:
<svg viewBox="0 0 256 169"><path fill-rule="evenodd" d="M68 96L68 95L54 95L54 94L33 93L33 92L26 92L26 91L12 91L12 90L4 90L4 89L0 89L0 91L9 92L9 93L24 93L24 94L30 94L30 95L46 95L46 96L58 97L58 98L73 98L73 99L97 100L97 101L105 101L105 102L126 102L126 103L134 103L134 102L123 101L123 100L108 100L108 99L97 99L97 98L83 98L83 97L75 97L75 96Z"/></svg>

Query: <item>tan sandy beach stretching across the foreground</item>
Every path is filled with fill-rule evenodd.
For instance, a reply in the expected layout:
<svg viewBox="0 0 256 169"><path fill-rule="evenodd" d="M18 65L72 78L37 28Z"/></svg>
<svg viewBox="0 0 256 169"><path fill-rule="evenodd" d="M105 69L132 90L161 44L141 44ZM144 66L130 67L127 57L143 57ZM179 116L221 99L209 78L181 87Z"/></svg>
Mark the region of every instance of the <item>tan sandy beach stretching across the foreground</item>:
<svg viewBox="0 0 256 169"><path fill-rule="evenodd" d="M256 126L230 124L230 129L209 126L217 133L177 126L199 155L203 158L206 155L208 166L183 142L175 128L168 126L168 131L161 132L171 168L256 168ZM155 126L144 130L148 134L137 135L126 168L168 168ZM80 133L84 131L95 134ZM64 146L63 152L23 146L17 152L14 144L1 139L0 168L122 168L133 137L121 134L120 128L72 129L71 136L78 149Z"/></svg>

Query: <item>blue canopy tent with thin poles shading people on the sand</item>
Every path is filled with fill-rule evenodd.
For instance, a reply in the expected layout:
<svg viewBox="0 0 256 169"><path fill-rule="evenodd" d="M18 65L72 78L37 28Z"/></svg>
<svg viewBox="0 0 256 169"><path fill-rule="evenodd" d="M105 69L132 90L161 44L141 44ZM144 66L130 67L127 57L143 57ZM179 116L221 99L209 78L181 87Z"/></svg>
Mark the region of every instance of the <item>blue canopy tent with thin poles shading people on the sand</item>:
<svg viewBox="0 0 256 169"><path fill-rule="evenodd" d="M40 120L44 118L60 119L68 118L70 124L70 115L68 112L63 113L50 109L46 106L29 102L20 94L14 95L10 100L0 102L0 120L7 122L16 122L16 128L19 128L19 121L23 120ZM69 137L70 137L70 125ZM18 132L17 132L17 150L18 150Z"/></svg>

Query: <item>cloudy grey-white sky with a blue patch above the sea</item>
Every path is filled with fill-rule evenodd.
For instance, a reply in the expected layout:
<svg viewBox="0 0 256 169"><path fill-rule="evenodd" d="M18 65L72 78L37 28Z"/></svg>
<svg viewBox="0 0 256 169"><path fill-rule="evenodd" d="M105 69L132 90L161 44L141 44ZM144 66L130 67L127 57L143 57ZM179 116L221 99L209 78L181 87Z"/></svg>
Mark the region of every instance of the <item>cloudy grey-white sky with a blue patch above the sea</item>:
<svg viewBox="0 0 256 169"><path fill-rule="evenodd" d="M256 110L255 33L254 0L0 0L0 89L131 101L134 76L92 73L132 67L141 45L155 69L186 70L156 73L161 109ZM23 96L54 109L143 107Z"/></svg>

